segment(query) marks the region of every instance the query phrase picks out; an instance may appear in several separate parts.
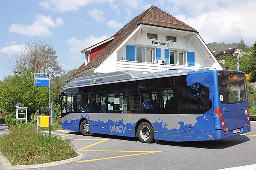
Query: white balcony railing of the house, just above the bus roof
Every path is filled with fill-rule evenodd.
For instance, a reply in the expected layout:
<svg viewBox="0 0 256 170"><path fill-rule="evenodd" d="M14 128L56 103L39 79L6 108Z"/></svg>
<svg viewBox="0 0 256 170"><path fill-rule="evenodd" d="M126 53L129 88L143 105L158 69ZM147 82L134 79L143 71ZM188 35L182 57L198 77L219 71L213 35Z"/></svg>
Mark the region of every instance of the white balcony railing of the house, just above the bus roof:
<svg viewBox="0 0 256 170"><path fill-rule="evenodd" d="M154 62L136 62L127 60L116 60L116 70L122 71L144 71L144 72L159 72L166 71L169 69L193 69L193 70L212 70L215 68L209 67L194 67L187 65L174 65L174 64L160 64Z"/></svg>

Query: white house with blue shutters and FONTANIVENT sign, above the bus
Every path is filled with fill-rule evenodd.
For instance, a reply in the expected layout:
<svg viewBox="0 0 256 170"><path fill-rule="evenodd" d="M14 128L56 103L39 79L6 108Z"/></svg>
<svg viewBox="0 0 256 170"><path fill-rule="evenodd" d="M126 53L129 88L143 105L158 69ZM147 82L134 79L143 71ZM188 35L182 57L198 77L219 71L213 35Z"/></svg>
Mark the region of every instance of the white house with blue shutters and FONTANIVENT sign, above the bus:
<svg viewBox="0 0 256 170"><path fill-rule="evenodd" d="M81 53L85 61L70 79L113 71L222 69L195 28L156 6Z"/></svg>

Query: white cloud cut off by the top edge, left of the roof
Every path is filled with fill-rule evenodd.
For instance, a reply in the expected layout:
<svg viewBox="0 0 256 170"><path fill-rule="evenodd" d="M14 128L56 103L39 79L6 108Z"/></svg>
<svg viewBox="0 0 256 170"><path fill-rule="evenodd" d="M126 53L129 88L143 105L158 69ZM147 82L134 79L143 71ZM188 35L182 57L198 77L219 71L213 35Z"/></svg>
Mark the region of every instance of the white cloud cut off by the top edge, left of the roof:
<svg viewBox="0 0 256 170"><path fill-rule="evenodd" d="M67 12L78 11L80 7L86 6L90 2L93 0L45 0L39 5L52 11Z"/></svg>

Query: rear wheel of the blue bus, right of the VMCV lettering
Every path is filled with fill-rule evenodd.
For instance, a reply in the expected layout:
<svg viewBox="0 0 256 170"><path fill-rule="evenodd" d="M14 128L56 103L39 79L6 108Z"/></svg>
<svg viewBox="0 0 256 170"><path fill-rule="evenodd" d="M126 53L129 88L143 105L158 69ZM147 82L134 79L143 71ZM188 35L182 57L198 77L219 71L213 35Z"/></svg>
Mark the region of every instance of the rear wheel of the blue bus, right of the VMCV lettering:
<svg viewBox="0 0 256 170"><path fill-rule="evenodd" d="M142 122L138 126L137 133L140 142L152 143L154 141L154 130L153 127L148 122Z"/></svg>

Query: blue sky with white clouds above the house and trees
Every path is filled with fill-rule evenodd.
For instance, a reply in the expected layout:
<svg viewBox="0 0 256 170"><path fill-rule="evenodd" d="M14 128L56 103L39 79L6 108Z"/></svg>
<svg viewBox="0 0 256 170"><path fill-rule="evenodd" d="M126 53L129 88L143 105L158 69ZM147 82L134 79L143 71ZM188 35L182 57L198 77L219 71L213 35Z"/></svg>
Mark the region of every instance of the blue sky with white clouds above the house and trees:
<svg viewBox="0 0 256 170"><path fill-rule="evenodd" d="M0 2L0 79L12 74L14 54L46 39L66 71L81 50L105 40L151 5L197 29L206 43L256 40L255 0L12 0Z"/></svg>

